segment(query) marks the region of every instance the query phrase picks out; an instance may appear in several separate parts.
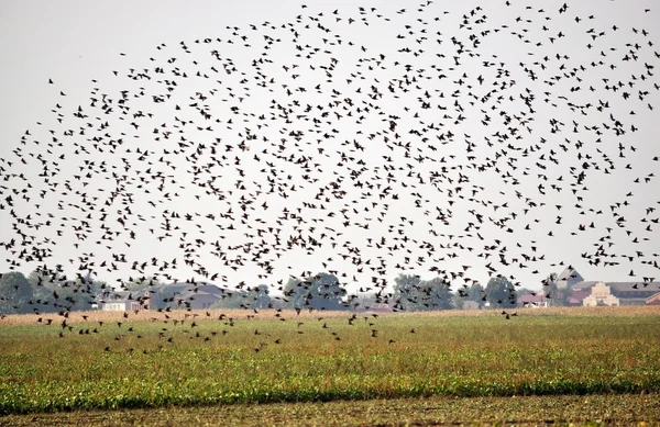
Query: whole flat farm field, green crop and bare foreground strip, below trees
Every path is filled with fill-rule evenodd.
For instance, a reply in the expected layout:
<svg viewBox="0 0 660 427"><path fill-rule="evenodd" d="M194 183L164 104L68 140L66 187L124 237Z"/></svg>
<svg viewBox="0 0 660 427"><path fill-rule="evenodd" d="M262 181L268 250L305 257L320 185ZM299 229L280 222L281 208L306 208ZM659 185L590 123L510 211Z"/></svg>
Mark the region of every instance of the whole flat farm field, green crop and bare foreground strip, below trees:
<svg viewBox="0 0 660 427"><path fill-rule="evenodd" d="M84 314L1 321L0 425L660 419L660 307Z"/></svg>

